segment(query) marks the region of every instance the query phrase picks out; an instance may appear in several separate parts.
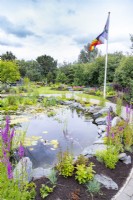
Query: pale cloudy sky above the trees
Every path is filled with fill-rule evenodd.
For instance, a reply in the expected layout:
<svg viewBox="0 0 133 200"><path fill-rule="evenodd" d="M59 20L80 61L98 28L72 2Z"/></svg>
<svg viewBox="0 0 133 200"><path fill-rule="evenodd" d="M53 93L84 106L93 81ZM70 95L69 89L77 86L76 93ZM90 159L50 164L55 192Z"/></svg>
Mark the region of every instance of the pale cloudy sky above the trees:
<svg viewBox="0 0 133 200"><path fill-rule="evenodd" d="M103 31L108 12L108 52L131 53L133 0L0 0L0 55L74 62ZM106 44L97 47L105 54Z"/></svg>

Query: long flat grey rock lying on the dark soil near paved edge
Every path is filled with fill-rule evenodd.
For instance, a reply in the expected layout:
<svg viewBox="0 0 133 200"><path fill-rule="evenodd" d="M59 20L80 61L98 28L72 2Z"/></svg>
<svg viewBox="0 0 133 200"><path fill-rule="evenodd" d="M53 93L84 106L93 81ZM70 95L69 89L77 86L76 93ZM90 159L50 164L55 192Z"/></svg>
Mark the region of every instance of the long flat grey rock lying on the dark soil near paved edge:
<svg viewBox="0 0 133 200"><path fill-rule="evenodd" d="M107 189L113 189L118 190L118 185L109 177L103 175L103 174L96 174L94 177L99 183L104 185Z"/></svg>

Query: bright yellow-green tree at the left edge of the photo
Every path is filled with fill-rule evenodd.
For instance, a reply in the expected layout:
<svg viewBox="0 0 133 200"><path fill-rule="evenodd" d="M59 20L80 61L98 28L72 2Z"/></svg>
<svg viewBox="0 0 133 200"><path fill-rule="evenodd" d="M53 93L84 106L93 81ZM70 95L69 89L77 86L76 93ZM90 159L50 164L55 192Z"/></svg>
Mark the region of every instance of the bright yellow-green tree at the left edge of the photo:
<svg viewBox="0 0 133 200"><path fill-rule="evenodd" d="M18 66L15 62L0 61L0 81L2 83L14 83L20 79Z"/></svg>

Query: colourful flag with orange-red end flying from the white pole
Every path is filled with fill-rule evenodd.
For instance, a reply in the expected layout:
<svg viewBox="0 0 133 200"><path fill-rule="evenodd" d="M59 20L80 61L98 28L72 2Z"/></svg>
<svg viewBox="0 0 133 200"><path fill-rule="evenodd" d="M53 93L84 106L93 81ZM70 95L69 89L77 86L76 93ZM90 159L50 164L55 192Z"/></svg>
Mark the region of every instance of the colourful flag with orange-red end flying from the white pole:
<svg viewBox="0 0 133 200"><path fill-rule="evenodd" d="M108 30L109 30L109 16L107 18L107 22L105 24L103 32L90 44L89 46L90 51L93 51L97 45L104 44L104 40L108 39Z"/></svg>

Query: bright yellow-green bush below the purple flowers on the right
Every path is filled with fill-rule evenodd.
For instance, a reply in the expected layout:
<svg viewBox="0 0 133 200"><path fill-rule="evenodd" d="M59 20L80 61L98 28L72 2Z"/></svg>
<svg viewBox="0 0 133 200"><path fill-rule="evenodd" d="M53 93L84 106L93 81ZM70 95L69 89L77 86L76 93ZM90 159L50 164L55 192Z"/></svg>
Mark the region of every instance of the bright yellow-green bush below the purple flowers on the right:
<svg viewBox="0 0 133 200"><path fill-rule="evenodd" d="M96 157L99 161L103 161L105 166L110 169L115 169L118 162L118 151L114 147L109 147L107 150L97 151Z"/></svg>

